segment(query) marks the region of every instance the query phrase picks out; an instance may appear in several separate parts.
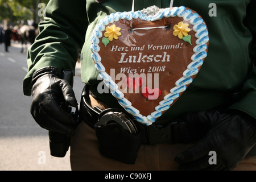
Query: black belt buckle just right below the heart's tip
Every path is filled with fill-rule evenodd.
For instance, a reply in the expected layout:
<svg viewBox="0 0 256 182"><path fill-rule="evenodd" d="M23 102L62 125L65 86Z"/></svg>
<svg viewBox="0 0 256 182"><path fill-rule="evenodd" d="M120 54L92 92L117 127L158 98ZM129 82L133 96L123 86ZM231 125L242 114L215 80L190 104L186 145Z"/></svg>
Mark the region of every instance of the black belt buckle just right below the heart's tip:
<svg viewBox="0 0 256 182"><path fill-rule="evenodd" d="M172 143L172 125L177 124L177 122L171 122L167 126L152 124L146 126L146 135L148 144L156 143Z"/></svg>

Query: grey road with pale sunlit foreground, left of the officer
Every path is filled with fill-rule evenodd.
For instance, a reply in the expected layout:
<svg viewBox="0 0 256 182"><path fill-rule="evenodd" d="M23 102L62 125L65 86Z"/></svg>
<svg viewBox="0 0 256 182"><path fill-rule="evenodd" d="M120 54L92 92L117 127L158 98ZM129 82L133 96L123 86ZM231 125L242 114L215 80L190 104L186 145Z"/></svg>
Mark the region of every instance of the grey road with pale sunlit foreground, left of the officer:
<svg viewBox="0 0 256 182"><path fill-rule="evenodd" d="M48 131L30 114L32 97L22 91L26 53L20 53L20 45L14 43L9 51L0 44L0 170L70 170L69 152L64 158L51 156ZM73 89L79 103L82 87L77 64Z"/></svg>

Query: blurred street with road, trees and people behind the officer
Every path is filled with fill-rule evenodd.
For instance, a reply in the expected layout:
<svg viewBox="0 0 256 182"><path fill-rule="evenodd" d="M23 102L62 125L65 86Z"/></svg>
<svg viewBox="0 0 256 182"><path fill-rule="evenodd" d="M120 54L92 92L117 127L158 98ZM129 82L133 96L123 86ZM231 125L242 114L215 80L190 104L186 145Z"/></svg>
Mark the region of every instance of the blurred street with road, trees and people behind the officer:
<svg viewBox="0 0 256 182"><path fill-rule="evenodd" d="M27 48L38 35L47 3L0 0L0 171L71 170L69 151L64 158L50 155L48 131L32 118L32 96L24 96L22 90ZM84 86L80 63L74 79L73 89L80 103Z"/></svg>

